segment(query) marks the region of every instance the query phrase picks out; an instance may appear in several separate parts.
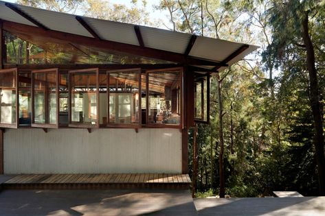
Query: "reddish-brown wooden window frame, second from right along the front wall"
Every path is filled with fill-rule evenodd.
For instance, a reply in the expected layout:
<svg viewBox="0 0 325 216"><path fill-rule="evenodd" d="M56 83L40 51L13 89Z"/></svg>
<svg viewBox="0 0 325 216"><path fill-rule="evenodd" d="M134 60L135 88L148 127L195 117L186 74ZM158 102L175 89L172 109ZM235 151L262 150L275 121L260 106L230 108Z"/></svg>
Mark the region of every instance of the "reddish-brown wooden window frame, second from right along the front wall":
<svg viewBox="0 0 325 216"><path fill-rule="evenodd" d="M109 79L111 73L138 73L138 107L139 107L139 123L110 123L109 122ZM142 90L142 69L141 68L135 68L135 69L119 69L119 70L109 70L107 71L107 127L109 128L142 128L142 105L141 105L141 90ZM115 111L116 112L116 111Z"/></svg>

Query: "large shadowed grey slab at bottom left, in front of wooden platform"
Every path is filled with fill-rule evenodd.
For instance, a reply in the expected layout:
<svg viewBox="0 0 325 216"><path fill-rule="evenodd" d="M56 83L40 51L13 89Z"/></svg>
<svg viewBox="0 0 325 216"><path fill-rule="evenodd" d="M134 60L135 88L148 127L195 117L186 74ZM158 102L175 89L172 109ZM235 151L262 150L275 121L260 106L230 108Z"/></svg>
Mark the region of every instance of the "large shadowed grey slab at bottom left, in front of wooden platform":
<svg viewBox="0 0 325 216"><path fill-rule="evenodd" d="M4 190L0 215L197 215L189 190Z"/></svg>

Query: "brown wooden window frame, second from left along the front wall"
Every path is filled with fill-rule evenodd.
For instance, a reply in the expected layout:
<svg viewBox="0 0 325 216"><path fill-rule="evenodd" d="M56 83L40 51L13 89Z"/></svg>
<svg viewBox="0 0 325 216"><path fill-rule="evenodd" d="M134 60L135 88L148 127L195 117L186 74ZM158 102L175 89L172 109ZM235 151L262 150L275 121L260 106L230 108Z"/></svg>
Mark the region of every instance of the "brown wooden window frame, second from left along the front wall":
<svg viewBox="0 0 325 216"><path fill-rule="evenodd" d="M55 114L55 117L56 117L56 123L49 123L50 122L50 113L49 113L49 93L48 93L48 89L47 89L47 75L48 73L55 73L56 77L55 77L55 95L56 95L56 114ZM35 81L35 75L37 74L40 74L40 73L43 73L45 75L45 90L44 90L44 106L45 106L45 117L44 117L44 121L45 123L35 123L35 117L36 117L36 110L35 110L35 84L36 84L36 81ZM33 128L58 128L58 112L59 112L59 89L58 89L58 82L59 82L59 73L58 73L58 69L44 69L44 70L35 70L35 71L32 71L32 124L31 126Z"/></svg>

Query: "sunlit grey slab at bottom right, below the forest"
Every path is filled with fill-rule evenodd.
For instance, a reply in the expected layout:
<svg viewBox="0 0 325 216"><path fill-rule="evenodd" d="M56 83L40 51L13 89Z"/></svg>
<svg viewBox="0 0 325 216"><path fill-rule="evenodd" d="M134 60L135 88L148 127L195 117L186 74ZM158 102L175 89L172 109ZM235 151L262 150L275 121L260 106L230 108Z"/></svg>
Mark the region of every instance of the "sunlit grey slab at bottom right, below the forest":
<svg viewBox="0 0 325 216"><path fill-rule="evenodd" d="M325 215L325 197L194 199L198 215Z"/></svg>

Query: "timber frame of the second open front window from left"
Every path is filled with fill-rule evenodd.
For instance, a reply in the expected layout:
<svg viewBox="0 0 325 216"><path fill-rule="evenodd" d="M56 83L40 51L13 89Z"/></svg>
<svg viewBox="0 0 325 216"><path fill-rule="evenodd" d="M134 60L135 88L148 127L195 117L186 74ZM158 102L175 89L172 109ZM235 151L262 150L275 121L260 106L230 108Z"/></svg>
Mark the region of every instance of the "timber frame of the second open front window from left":
<svg viewBox="0 0 325 216"><path fill-rule="evenodd" d="M56 123L35 123L34 121L34 115L35 115L35 101L34 101L34 74L35 73L47 73L47 72L56 72ZM58 68L54 68L54 69L42 69L42 70L32 70L32 86L31 86L31 96L32 96L32 121L31 121L31 127L32 128L58 128L58 119L59 119L59 109L60 109L60 104L59 104L59 89L58 89L58 82L59 82L59 73L58 73ZM45 99L45 110L48 109L48 103L49 101L47 101ZM47 111L45 111L47 112ZM48 121L48 117L47 115L45 115L45 122L49 122Z"/></svg>

